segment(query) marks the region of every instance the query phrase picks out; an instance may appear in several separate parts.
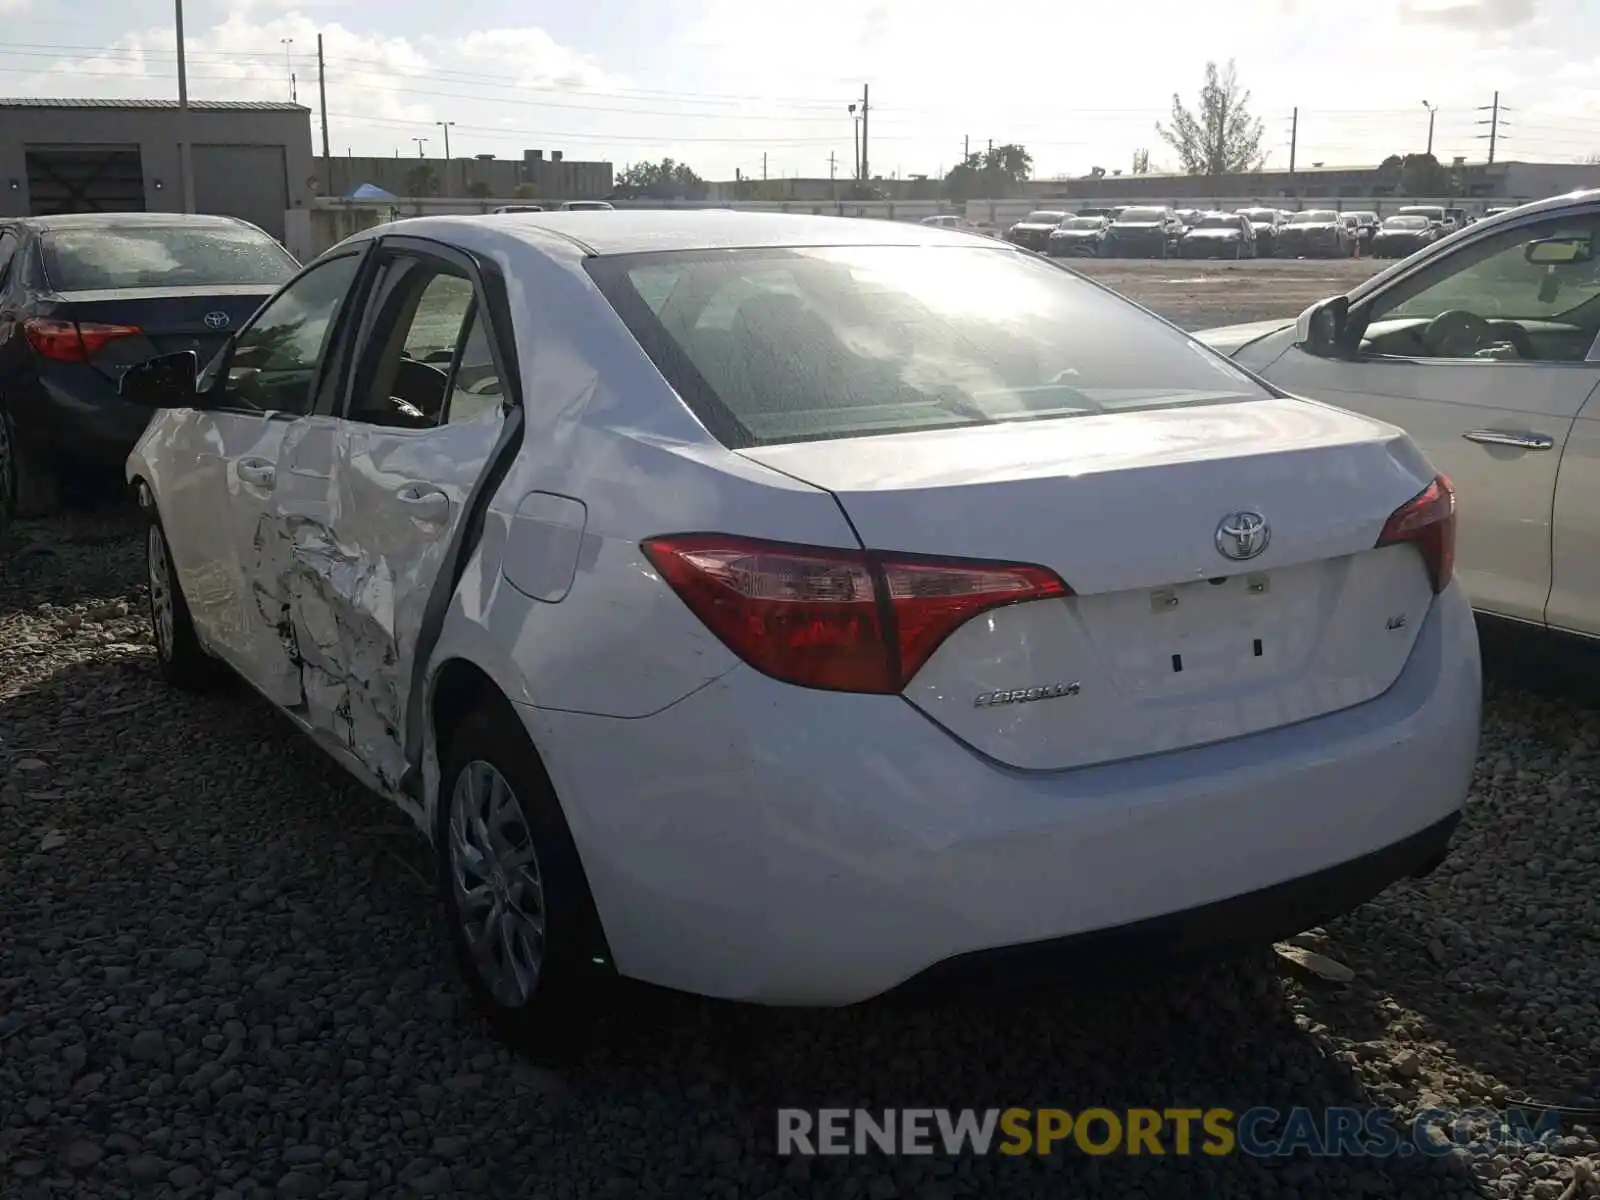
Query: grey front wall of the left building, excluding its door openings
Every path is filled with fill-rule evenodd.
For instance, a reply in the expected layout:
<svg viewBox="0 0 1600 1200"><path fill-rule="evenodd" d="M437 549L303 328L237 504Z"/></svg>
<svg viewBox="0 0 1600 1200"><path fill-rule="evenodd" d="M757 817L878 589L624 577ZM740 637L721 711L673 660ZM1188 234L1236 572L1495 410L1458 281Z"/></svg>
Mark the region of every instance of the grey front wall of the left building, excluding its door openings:
<svg viewBox="0 0 1600 1200"><path fill-rule="evenodd" d="M144 168L146 210L181 213L178 125L176 107L0 107L0 216L30 213L27 150L34 146L136 146ZM312 198L310 109L190 109L189 139L218 147L282 147L288 208L304 208ZM272 197L282 195L283 181L267 186ZM246 213L226 216L250 219Z"/></svg>

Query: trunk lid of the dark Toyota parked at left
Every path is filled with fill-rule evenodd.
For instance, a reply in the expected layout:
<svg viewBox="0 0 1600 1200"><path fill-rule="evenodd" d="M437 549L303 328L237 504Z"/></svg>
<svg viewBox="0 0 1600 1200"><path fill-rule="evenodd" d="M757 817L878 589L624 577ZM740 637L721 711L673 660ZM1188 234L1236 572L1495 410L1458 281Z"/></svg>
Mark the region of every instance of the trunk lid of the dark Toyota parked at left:
<svg viewBox="0 0 1600 1200"><path fill-rule="evenodd" d="M205 365L275 291L270 285L64 291L50 315L80 325L138 326L138 336L91 346L90 365L120 379L134 363L174 350L194 350Z"/></svg>

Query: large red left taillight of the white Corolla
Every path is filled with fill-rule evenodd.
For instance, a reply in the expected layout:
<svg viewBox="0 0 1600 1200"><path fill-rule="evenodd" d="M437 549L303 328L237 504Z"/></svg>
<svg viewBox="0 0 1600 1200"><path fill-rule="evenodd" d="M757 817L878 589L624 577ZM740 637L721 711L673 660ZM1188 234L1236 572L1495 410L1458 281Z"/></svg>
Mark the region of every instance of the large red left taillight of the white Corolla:
<svg viewBox="0 0 1600 1200"><path fill-rule="evenodd" d="M901 691L978 613L1072 595L1043 566L702 533L651 538L642 547L728 650L803 688Z"/></svg>

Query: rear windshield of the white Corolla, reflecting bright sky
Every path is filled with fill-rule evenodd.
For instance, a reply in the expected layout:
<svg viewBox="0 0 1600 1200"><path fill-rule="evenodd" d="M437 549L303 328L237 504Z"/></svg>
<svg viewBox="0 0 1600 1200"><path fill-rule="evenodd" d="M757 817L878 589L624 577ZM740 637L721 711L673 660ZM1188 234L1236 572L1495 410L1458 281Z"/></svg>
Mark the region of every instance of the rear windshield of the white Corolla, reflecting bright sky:
<svg viewBox="0 0 1600 1200"><path fill-rule="evenodd" d="M651 253L589 270L731 446L1269 395L1122 298L1008 250Z"/></svg>

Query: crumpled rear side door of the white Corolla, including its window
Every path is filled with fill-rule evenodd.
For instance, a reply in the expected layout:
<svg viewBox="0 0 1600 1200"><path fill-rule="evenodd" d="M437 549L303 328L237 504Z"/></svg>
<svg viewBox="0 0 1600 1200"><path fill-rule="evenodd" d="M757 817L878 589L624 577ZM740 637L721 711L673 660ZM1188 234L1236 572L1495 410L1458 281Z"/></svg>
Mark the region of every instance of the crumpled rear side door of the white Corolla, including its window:
<svg viewBox="0 0 1600 1200"><path fill-rule="evenodd" d="M387 789L405 776L411 667L504 426L496 352L459 264L382 253L341 411L283 453L274 586L304 717Z"/></svg>

